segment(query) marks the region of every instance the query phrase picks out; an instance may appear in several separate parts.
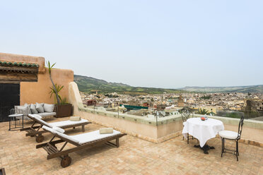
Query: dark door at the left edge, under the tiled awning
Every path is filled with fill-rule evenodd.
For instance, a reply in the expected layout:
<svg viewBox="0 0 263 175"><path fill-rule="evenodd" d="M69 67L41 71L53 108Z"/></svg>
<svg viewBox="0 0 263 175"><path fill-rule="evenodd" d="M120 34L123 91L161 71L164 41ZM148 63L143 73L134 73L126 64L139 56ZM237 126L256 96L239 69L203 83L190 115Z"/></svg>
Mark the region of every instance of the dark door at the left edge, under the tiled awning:
<svg viewBox="0 0 263 175"><path fill-rule="evenodd" d="M20 104L20 84L0 83L0 122L8 121L10 109Z"/></svg>

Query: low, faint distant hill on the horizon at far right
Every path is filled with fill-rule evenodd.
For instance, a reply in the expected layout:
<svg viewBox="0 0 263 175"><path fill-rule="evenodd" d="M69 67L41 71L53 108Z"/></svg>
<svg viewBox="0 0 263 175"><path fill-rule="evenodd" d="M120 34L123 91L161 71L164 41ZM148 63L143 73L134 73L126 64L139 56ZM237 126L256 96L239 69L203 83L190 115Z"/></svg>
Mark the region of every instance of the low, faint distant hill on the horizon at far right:
<svg viewBox="0 0 263 175"><path fill-rule="evenodd" d="M256 92L263 93L263 85L232 86L232 87L183 87L180 90L189 92Z"/></svg>

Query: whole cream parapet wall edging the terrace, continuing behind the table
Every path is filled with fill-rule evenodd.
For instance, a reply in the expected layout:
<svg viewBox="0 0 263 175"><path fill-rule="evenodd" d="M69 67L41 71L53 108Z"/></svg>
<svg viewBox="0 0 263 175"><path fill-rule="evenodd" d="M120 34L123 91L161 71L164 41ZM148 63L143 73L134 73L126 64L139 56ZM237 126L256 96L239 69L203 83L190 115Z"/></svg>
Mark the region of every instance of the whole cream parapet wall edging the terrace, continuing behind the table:
<svg viewBox="0 0 263 175"><path fill-rule="evenodd" d="M156 118L149 119L141 116L118 114L117 112L83 107L78 86L74 82L69 83L69 101L74 106L74 116L81 116L94 123L115 128L153 143L163 142L182 133L182 118L180 114L158 118L158 121L156 121ZM201 115L195 114L194 116L199 117ZM209 116L209 118L223 121L226 130L238 131L239 119L230 119L221 116ZM263 147L262 135L262 121L244 121L242 142Z"/></svg>

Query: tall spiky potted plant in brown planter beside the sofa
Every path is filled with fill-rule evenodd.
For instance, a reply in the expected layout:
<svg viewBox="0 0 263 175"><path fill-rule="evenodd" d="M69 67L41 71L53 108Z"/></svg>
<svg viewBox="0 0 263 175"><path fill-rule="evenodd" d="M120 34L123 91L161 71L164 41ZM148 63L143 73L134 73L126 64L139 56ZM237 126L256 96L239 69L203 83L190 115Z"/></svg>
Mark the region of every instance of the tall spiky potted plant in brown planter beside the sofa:
<svg viewBox="0 0 263 175"><path fill-rule="evenodd" d="M55 104L55 110L56 110L56 117L64 117L64 116L71 116L72 114L72 104L69 104L66 102L66 98L62 99L62 97L59 95L59 92L63 89L64 85L57 85L54 84L52 77L51 77L51 71L54 67L54 64L50 64L49 61L47 61L48 66L48 72L49 72L49 78L52 83L52 87L50 87L50 98L54 96L55 101L57 101L57 104Z"/></svg>

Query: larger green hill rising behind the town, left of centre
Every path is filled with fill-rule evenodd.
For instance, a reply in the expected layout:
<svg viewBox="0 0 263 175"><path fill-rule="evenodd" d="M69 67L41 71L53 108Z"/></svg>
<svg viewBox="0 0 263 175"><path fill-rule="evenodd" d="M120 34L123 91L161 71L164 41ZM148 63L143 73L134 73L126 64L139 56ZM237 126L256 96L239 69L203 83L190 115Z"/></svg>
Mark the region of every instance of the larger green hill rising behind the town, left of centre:
<svg viewBox="0 0 263 175"><path fill-rule="evenodd" d="M99 80L87 76L74 75L74 81L78 85L78 90L81 92L91 92L92 90L99 90L103 93L119 92L123 94L161 94L167 93L180 93L184 90L153 88L153 87L133 87L123 83L108 83L105 80Z"/></svg>

